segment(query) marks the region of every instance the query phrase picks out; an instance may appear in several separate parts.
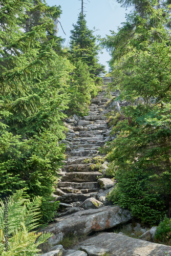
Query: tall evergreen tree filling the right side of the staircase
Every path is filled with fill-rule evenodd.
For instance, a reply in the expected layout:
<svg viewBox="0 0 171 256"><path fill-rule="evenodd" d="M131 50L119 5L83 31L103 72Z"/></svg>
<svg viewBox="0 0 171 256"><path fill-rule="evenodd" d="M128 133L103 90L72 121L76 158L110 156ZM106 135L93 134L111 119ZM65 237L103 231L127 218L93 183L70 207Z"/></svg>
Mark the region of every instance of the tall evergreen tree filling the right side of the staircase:
<svg viewBox="0 0 171 256"><path fill-rule="evenodd" d="M171 212L170 16L158 6L150 9L143 17L128 16L118 33L103 41L112 51L110 89L120 90L116 100L129 102L113 129L117 139L105 150L117 180L110 199L155 223Z"/></svg>

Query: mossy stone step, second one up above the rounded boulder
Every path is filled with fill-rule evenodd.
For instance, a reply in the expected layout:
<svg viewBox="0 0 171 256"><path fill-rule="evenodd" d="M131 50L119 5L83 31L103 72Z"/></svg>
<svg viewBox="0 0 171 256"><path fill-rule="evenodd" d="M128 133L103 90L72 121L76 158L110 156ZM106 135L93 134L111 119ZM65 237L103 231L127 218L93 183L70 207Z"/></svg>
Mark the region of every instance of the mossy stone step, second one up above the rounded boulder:
<svg viewBox="0 0 171 256"><path fill-rule="evenodd" d="M66 165L62 168L64 172L75 173L75 172L95 172L98 171L99 168L95 166L95 164L84 163L84 164L72 164Z"/></svg>

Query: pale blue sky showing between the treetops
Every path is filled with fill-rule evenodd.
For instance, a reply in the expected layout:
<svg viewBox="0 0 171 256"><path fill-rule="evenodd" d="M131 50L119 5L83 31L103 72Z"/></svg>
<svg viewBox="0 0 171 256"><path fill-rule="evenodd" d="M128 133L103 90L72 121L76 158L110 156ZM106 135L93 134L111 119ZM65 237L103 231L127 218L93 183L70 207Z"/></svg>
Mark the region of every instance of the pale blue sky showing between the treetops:
<svg viewBox="0 0 171 256"><path fill-rule="evenodd" d="M96 32L94 35L110 35L110 30L117 32L117 27L125 21L125 13L128 13L130 9L125 10L120 7L115 0L84 0L84 10L87 11L86 20L89 29L95 27ZM63 34L62 29L59 26L58 35L62 38L66 38L65 46L70 41L70 31L73 29L72 24L76 24L78 14L81 10L81 1L79 0L46 0L49 6L60 5L62 9L62 14L60 17L60 22L65 31ZM103 54L99 56L99 62L106 66L106 71L108 71L108 63L106 61L110 60L109 54L103 50Z"/></svg>

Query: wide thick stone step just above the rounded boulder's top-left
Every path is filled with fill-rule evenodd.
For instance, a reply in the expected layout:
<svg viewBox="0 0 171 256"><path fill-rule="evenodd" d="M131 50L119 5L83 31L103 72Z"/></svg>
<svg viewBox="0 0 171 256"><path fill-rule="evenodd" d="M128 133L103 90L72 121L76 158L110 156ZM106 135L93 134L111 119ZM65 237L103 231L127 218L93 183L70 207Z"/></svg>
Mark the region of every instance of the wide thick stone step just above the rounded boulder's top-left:
<svg viewBox="0 0 171 256"><path fill-rule="evenodd" d="M97 177L102 176L99 172L92 173L67 173L62 176L61 181L72 181L72 182L91 182L97 181Z"/></svg>

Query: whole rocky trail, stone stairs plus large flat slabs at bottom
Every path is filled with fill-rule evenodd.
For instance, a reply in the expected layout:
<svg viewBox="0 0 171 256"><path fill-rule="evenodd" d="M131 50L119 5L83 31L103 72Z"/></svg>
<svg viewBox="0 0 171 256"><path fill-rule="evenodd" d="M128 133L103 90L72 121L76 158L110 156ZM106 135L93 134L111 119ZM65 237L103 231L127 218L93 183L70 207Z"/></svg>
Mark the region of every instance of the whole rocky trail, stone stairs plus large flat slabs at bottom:
<svg viewBox="0 0 171 256"><path fill-rule="evenodd" d="M42 230L53 233L49 239L51 248L42 255L171 255L170 246L130 238L124 234L101 232L132 220L129 210L113 206L106 199L115 186L112 179L105 177L108 162L101 163L100 167L96 164L101 158L99 147L114 139L110 136L111 129L106 117L112 111L111 104L107 104L110 99L105 97L106 84L111 80L103 80L103 91L91 100L89 115L83 118L74 115L66 119L68 133L62 141L67 144L66 161L60 170L61 179L53 195L54 200L60 201L60 211L54 222ZM111 95L115 96L115 93ZM125 102L120 102L120 106L123 104ZM149 236L154 236L153 230L148 231ZM57 245L64 237L75 234L92 236L70 250Z"/></svg>

